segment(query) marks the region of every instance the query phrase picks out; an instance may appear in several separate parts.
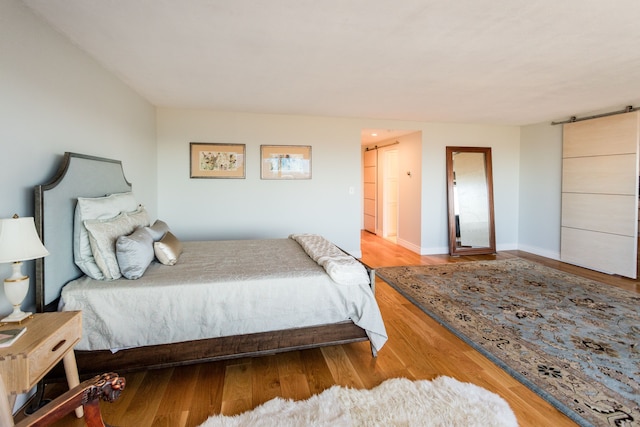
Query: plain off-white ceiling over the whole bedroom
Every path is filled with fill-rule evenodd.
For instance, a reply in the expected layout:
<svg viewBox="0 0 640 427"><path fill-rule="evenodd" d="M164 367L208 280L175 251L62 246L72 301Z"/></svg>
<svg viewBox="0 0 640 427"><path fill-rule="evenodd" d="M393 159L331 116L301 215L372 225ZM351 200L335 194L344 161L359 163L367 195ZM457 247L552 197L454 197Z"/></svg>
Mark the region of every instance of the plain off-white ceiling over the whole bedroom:
<svg viewBox="0 0 640 427"><path fill-rule="evenodd" d="M157 106L523 125L640 101L638 0L23 0Z"/></svg>

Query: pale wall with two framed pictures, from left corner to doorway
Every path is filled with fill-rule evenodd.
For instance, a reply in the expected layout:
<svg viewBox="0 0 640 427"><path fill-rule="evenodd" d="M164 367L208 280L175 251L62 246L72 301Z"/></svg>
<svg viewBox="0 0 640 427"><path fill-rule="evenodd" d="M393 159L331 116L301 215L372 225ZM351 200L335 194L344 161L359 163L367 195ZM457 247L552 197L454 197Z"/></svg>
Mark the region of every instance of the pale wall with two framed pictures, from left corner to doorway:
<svg viewBox="0 0 640 427"><path fill-rule="evenodd" d="M359 256L359 138L343 119L158 109L159 216L184 240L317 233ZM246 178L190 179L190 142L245 144ZM261 144L310 145L312 179L260 179Z"/></svg>

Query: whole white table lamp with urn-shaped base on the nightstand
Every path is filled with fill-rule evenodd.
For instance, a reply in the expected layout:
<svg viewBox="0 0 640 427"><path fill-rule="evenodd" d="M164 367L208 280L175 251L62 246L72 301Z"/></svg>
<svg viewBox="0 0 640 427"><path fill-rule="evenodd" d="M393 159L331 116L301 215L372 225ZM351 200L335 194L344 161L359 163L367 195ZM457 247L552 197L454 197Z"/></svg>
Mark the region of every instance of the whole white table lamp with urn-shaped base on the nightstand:
<svg viewBox="0 0 640 427"><path fill-rule="evenodd" d="M47 255L32 217L0 219L0 263L13 263L13 274L4 281L4 293L13 305L13 313L1 322L21 322L31 316L21 309L29 292L29 276L22 273L22 261Z"/></svg>

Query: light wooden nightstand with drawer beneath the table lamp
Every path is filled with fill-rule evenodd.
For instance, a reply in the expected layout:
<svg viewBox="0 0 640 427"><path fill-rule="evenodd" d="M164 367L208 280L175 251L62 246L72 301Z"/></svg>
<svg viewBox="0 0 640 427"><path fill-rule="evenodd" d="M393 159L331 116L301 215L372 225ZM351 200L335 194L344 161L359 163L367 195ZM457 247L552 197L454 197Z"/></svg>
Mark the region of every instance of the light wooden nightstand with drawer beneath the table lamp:
<svg viewBox="0 0 640 427"><path fill-rule="evenodd" d="M0 326L16 327L16 323ZM80 383L73 347L82 335L82 315L79 311L37 313L20 323L27 331L10 347L0 348L0 377L8 394L9 407L18 394L36 386L60 360L64 363L69 388ZM82 407L76 409L82 417Z"/></svg>

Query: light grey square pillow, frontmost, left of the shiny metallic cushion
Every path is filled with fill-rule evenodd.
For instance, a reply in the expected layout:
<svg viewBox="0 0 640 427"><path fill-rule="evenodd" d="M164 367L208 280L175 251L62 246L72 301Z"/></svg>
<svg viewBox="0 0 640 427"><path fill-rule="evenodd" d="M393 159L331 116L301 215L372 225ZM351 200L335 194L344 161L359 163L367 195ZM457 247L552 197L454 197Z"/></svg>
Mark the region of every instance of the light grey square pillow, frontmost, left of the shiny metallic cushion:
<svg viewBox="0 0 640 427"><path fill-rule="evenodd" d="M139 227L116 240L116 258L120 272L127 279L139 279L153 261L153 238L147 227Z"/></svg>

